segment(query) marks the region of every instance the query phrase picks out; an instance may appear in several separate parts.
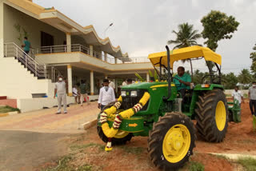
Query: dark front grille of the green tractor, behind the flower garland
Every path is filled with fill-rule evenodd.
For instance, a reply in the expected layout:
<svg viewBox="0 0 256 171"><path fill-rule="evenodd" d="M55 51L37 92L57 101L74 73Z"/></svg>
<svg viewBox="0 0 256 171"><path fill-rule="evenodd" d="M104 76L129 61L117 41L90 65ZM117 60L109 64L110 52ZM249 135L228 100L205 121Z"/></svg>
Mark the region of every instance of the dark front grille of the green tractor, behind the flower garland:
<svg viewBox="0 0 256 171"><path fill-rule="evenodd" d="M137 89L137 97L130 97L130 92L134 91L133 89L130 90L126 90L126 97L122 97L122 105L120 107L120 109L130 109L132 107L134 107L134 105L136 105L138 103L138 101L142 98L143 94L146 92L146 90L144 89ZM149 104L149 101L146 102L146 105L143 106L143 108L140 111L146 110L147 106Z"/></svg>

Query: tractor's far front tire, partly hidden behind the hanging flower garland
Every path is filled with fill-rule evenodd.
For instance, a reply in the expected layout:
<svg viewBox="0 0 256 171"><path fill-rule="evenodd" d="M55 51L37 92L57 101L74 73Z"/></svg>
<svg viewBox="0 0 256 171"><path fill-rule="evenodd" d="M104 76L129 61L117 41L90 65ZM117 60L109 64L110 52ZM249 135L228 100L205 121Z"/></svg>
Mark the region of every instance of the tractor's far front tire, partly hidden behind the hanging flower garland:
<svg viewBox="0 0 256 171"><path fill-rule="evenodd" d="M110 104L104 106L101 113L105 109L108 109L111 106L113 106L114 103L115 102L111 102ZM97 132L98 132L98 137L100 137L102 139L102 141L104 141L104 142L108 141L108 137L106 137L106 135L103 133L103 130L102 130L101 126L97 126ZM115 137L112 137L112 139L111 139L112 145L125 145L126 141L130 141L132 137L133 137L133 133L127 133L127 132L119 130L117 135Z"/></svg>

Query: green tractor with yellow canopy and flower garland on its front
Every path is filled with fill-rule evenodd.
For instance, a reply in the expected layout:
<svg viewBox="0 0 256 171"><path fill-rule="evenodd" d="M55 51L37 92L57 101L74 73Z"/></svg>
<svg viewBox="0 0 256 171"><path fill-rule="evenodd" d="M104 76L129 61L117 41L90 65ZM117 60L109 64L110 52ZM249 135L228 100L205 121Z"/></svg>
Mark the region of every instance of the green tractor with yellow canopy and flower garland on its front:
<svg viewBox="0 0 256 171"><path fill-rule="evenodd" d="M166 46L166 51L150 54L149 59L159 80L122 86L118 101L98 115L98 135L107 143L106 151L134 136L148 136L147 150L153 164L159 169L178 169L193 154L196 130L210 142L225 137L228 105L221 84L222 57L206 47L170 51ZM174 62L199 59L209 65L209 74L202 78L202 84L190 84L191 89L182 97L173 83Z"/></svg>

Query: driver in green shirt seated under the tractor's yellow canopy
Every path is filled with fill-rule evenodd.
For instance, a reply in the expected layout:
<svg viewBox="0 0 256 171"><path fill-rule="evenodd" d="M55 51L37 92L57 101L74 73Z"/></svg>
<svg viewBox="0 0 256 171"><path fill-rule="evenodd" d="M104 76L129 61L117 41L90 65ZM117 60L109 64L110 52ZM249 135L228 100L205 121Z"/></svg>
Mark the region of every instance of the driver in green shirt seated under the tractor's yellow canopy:
<svg viewBox="0 0 256 171"><path fill-rule="evenodd" d="M177 90L182 94L182 98L185 96L186 89L190 89L191 77L190 74L185 73L183 66L178 66L177 73L174 76L174 84Z"/></svg>

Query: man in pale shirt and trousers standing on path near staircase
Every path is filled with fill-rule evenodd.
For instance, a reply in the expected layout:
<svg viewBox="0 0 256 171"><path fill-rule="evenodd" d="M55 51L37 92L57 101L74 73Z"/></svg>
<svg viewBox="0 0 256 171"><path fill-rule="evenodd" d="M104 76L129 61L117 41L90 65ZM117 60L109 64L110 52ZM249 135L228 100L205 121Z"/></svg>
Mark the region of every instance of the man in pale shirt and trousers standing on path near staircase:
<svg viewBox="0 0 256 171"><path fill-rule="evenodd" d="M58 111L56 114L62 113L62 103L64 108L64 113L66 114L66 83L63 81L62 76L58 76L58 82L55 83L54 98L58 99Z"/></svg>

